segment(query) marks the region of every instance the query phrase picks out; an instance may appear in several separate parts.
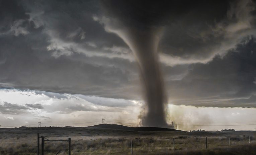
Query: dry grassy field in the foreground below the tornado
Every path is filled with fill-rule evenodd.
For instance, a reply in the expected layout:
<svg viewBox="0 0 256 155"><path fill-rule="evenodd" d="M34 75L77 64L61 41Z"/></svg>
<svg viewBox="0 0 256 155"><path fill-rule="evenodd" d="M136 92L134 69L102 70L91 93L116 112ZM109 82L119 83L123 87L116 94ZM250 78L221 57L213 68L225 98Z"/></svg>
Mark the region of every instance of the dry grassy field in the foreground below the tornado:
<svg viewBox="0 0 256 155"><path fill-rule="evenodd" d="M131 140L133 140L134 154L256 154L255 131L128 131L94 127L0 128L0 154L36 154L37 133L47 139L71 137L73 155L131 154ZM205 137L207 137L207 149ZM229 146L229 137L231 146ZM45 142L45 154L55 155L59 151L59 154L68 154L68 142Z"/></svg>

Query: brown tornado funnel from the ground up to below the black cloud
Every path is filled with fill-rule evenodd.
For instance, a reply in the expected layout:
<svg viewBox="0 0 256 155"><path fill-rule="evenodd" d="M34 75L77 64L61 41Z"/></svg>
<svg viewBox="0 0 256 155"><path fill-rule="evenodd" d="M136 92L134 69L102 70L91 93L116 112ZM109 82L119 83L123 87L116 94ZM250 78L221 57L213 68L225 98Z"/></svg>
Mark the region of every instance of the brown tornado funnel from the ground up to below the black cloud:
<svg viewBox="0 0 256 155"><path fill-rule="evenodd" d="M145 115L141 118L143 126L166 127L166 92L163 76L160 71L157 52L162 28L148 28L147 30L126 29L117 34L133 51L138 66L144 100L146 103Z"/></svg>

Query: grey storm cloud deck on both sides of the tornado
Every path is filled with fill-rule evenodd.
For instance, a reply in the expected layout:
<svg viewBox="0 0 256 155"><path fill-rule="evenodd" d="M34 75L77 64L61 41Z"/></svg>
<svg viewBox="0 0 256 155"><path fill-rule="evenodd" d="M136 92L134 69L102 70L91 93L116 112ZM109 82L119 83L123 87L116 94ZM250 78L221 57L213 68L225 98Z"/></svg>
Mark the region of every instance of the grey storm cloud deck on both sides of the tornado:
<svg viewBox="0 0 256 155"><path fill-rule="evenodd" d="M228 52L256 33L253 1L116 2L118 18L129 14L121 18L125 24L165 27L158 51L170 103L253 106L254 57L243 52L253 49L246 43ZM99 1L0 0L0 7L1 88L141 100L134 56L106 32L109 19Z"/></svg>

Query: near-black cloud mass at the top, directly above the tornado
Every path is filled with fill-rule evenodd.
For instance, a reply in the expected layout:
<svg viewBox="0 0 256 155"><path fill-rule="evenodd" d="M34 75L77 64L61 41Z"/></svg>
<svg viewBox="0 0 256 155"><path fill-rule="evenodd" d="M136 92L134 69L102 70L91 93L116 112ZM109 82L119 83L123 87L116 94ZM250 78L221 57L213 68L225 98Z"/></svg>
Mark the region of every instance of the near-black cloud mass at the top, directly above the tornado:
<svg viewBox="0 0 256 155"><path fill-rule="evenodd" d="M187 22L222 19L227 13L229 1L118 1L102 0L107 15L118 18L124 25L145 29L147 26L163 26L181 18ZM118 6L118 7L116 7ZM216 11L218 8L218 11ZM204 14L201 14L204 12ZM124 18L125 17L125 18ZM188 18L190 17L190 18Z"/></svg>

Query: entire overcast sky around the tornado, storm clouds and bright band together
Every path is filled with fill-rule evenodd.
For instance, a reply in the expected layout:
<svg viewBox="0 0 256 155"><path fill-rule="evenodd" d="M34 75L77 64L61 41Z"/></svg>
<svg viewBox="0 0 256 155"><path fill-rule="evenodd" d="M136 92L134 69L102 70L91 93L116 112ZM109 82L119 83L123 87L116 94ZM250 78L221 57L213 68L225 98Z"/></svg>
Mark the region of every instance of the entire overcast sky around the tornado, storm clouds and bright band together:
<svg viewBox="0 0 256 155"><path fill-rule="evenodd" d="M125 3L117 6L125 8ZM166 7L157 23L163 27L157 51L167 121L184 130L254 129L181 124L256 124L251 117L256 112L255 2ZM124 24L155 24L126 9L131 16ZM120 26L115 22L97 0L0 0L0 124L92 122L73 124L83 126L102 118L139 124L144 107L140 71L132 50L112 33Z"/></svg>

